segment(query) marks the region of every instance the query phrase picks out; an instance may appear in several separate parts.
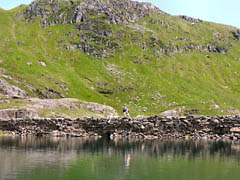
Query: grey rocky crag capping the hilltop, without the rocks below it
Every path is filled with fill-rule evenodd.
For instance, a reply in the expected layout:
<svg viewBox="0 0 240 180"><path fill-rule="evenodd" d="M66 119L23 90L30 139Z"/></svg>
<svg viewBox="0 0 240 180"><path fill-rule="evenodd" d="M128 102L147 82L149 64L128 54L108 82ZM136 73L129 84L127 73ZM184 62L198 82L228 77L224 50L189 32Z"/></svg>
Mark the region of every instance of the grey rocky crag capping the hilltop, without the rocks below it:
<svg viewBox="0 0 240 180"><path fill-rule="evenodd" d="M68 10L62 11L64 8ZM104 16L109 24L129 24L153 12L162 13L150 3L130 0L36 0L26 10L26 17L40 16L43 24L51 25L87 22L90 16L96 15Z"/></svg>

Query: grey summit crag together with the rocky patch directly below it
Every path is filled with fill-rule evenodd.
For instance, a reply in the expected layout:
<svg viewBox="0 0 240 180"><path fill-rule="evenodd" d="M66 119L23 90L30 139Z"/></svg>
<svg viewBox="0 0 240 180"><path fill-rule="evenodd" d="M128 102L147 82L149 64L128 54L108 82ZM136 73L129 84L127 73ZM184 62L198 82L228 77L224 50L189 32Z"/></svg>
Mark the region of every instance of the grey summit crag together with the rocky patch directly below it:
<svg viewBox="0 0 240 180"><path fill-rule="evenodd" d="M79 42L67 50L80 49L95 58L112 57L121 46L112 38L110 24L130 24L153 13L163 13L150 3L131 0L35 0L25 11L26 19L41 17L44 25L76 24ZM96 47L97 46L97 47Z"/></svg>

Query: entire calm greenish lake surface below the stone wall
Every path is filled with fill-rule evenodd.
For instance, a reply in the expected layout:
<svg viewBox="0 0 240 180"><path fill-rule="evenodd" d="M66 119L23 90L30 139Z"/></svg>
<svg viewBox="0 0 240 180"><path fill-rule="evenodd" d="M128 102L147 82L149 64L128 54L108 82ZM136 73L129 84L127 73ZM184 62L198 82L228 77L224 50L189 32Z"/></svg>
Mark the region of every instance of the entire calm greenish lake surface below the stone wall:
<svg viewBox="0 0 240 180"><path fill-rule="evenodd" d="M0 137L0 180L239 180L240 142Z"/></svg>

